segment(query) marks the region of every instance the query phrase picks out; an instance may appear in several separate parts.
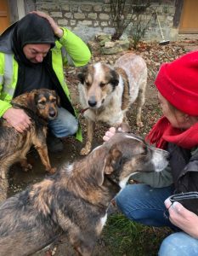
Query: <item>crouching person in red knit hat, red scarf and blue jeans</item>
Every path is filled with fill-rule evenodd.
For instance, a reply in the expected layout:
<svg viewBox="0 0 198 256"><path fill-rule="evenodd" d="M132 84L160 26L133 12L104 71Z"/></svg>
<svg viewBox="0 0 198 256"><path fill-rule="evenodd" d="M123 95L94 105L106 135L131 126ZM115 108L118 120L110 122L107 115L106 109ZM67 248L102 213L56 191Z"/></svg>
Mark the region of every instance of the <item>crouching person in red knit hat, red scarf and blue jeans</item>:
<svg viewBox="0 0 198 256"><path fill-rule="evenodd" d="M166 149L169 165L162 172L133 174L136 183L116 196L116 206L133 221L175 231L162 241L158 255L194 256L198 255L198 200L189 208L184 202L172 203L170 196L198 191L198 51L162 64L155 84L163 116L145 141ZM115 132L114 127L106 131L104 141Z"/></svg>

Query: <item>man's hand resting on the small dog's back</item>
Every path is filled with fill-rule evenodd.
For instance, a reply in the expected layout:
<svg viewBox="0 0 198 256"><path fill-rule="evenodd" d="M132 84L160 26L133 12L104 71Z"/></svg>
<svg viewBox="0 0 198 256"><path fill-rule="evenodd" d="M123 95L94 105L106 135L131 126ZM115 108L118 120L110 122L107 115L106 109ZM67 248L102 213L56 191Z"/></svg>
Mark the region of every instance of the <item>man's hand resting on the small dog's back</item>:
<svg viewBox="0 0 198 256"><path fill-rule="evenodd" d="M19 132L25 131L31 125L31 118L23 109L8 108L8 110L3 113L3 119L6 119L8 124Z"/></svg>

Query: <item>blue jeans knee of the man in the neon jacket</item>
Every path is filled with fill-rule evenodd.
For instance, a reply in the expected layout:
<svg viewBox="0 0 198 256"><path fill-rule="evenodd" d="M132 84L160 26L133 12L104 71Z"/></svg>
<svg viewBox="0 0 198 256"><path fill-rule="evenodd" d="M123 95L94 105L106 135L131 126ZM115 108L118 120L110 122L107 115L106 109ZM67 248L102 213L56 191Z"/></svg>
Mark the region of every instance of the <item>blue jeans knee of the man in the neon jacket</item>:
<svg viewBox="0 0 198 256"><path fill-rule="evenodd" d="M55 137L68 137L76 133L78 121L65 108L58 108L58 117L49 121L48 127Z"/></svg>

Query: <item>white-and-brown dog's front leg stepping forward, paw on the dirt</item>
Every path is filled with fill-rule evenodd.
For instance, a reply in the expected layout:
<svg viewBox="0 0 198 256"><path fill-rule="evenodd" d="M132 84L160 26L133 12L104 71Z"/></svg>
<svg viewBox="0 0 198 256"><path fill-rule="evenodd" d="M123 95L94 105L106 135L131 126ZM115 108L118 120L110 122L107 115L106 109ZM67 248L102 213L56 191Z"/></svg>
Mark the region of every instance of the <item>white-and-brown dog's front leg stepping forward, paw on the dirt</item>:
<svg viewBox="0 0 198 256"><path fill-rule="evenodd" d="M91 151L94 129L95 122L93 122L91 119L87 119L87 143L85 144L84 148L81 149L81 155L86 155Z"/></svg>

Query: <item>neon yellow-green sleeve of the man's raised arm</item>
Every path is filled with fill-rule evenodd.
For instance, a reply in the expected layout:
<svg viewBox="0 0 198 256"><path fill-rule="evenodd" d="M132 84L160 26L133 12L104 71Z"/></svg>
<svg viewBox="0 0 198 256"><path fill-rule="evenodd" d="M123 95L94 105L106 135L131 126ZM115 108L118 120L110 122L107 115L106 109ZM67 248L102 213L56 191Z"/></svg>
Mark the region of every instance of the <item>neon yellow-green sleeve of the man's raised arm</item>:
<svg viewBox="0 0 198 256"><path fill-rule="evenodd" d="M77 37L67 28L62 28L63 37L59 38L59 44L62 44L62 55L65 65L81 67L88 64L91 58L90 50L81 38Z"/></svg>

